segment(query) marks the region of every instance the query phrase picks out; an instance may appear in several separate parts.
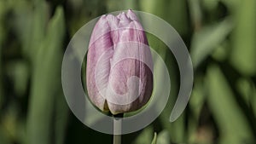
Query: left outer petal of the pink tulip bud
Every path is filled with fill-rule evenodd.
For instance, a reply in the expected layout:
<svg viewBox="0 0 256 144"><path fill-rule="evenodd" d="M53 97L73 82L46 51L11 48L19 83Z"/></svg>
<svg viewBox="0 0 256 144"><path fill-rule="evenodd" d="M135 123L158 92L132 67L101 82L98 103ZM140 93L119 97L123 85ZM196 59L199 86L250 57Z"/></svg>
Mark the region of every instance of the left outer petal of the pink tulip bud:
<svg viewBox="0 0 256 144"><path fill-rule="evenodd" d="M108 26L108 20L106 15L103 15L96 23L96 26L91 34L89 50L87 55L87 71L86 71L86 83L88 89L88 95L90 101L92 101L96 107L102 111L108 110L106 107L106 100L103 95L100 94L98 86L96 85L96 72L97 77L102 80L100 84L108 83L108 75L110 72L109 59L113 53L113 42L111 40L110 26ZM100 60L101 58L101 60ZM100 60L100 67L103 71L96 71L96 64ZM101 77L100 77L101 76ZM97 79L99 79L97 78Z"/></svg>

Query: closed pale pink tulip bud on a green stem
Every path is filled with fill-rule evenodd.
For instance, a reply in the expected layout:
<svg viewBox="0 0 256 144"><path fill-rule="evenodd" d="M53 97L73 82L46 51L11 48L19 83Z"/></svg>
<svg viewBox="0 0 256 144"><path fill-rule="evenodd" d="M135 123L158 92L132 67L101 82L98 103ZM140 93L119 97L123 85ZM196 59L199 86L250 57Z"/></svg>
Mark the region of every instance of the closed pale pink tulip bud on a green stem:
<svg viewBox="0 0 256 144"><path fill-rule="evenodd" d="M102 15L97 21L90 37L86 84L90 101L113 114L135 111L150 99L152 55L131 10Z"/></svg>

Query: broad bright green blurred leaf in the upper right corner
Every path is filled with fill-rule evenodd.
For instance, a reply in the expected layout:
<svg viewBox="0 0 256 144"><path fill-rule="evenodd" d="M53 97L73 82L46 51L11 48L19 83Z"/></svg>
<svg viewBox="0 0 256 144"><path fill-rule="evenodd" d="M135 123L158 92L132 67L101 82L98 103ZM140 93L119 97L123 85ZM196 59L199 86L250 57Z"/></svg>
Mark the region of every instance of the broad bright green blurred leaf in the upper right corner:
<svg viewBox="0 0 256 144"><path fill-rule="evenodd" d="M232 35L230 62L236 69L252 76L256 73L256 1L241 1L236 10L236 27Z"/></svg>

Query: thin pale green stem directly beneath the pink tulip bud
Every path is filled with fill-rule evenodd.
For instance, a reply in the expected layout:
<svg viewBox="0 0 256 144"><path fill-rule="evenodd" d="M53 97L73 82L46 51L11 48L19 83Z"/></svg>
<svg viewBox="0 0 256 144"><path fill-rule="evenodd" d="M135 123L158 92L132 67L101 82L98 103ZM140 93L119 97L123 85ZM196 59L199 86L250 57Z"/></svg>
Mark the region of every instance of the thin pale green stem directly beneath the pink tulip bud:
<svg viewBox="0 0 256 144"><path fill-rule="evenodd" d="M121 144L122 118L124 114L113 115L113 144Z"/></svg>

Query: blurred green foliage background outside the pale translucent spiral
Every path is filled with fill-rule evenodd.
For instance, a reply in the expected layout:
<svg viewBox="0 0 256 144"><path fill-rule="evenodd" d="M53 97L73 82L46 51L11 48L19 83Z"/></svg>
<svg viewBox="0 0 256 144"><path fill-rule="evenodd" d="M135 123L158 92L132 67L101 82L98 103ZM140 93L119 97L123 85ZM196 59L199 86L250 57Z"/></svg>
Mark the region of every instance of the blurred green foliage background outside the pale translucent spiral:
<svg viewBox="0 0 256 144"><path fill-rule="evenodd" d="M168 121L179 87L172 52L148 34L168 64L170 101L124 144L256 143L255 0L0 0L0 144L102 144L67 107L61 60L67 43L97 16L123 9L155 14L183 37L195 81L189 105Z"/></svg>

